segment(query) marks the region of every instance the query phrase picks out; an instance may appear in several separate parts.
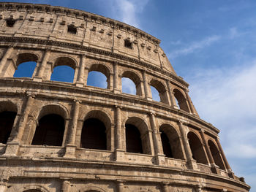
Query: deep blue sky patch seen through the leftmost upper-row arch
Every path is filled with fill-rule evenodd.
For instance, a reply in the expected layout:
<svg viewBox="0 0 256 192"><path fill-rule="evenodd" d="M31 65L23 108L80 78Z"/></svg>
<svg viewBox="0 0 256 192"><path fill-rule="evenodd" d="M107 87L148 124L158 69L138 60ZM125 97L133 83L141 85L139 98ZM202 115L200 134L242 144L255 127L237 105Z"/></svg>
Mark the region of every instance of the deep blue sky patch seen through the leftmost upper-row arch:
<svg viewBox="0 0 256 192"><path fill-rule="evenodd" d="M13 77L32 77L36 66L37 62L35 61L23 62L18 65Z"/></svg>

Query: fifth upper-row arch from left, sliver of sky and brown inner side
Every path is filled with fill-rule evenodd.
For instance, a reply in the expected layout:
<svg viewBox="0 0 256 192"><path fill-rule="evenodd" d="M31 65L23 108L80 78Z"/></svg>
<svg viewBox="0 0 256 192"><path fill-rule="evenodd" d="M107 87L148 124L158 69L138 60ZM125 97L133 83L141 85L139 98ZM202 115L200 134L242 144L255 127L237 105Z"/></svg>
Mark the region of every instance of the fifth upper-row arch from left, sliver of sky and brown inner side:
<svg viewBox="0 0 256 192"><path fill-rule="evenodd" d="M163 85L162 82L159 82L158 80L151 80L149 84L151 85L152 99L168 104L168 97L165 85ZM154 89L157 90L159 97L157 97L157 93Z"/></svg>

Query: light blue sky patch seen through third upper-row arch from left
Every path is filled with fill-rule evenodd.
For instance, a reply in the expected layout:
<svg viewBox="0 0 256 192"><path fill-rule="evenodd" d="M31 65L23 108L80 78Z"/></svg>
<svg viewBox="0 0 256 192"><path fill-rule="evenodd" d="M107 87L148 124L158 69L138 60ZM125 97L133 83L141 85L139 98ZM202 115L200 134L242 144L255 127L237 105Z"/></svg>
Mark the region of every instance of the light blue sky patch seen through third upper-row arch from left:
<svg viewBox="0 0 256 192"><path fill-rule="evenodd" d="M102 72L91 71L88 74L87 85L108 88L107 77Z"/></svg>

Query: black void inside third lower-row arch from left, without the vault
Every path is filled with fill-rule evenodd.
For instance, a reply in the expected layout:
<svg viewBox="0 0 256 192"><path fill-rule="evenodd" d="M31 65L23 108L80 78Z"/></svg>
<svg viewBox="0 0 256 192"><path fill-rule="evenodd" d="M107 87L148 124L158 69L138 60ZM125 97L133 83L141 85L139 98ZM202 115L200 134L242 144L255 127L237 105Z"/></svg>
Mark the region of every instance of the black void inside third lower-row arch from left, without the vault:
<svg viewBox="0 0 256 192"><path fill-rule="evenodd" d="M80 147L107 150L106 128L97 118L89 118L83 123Z"/></svg>

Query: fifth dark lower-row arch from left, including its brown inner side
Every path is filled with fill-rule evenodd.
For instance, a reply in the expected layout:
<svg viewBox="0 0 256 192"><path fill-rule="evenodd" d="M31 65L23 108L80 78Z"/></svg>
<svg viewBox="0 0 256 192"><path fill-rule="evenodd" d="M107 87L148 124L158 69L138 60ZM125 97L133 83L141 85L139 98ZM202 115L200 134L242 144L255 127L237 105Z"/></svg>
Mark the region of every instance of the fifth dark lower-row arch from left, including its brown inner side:
<svg viewBox="0 0 256 192"><path fill-rule="evenodd" d="M178 134L178 131L176 130L176 128L174 128L173 126L170 126L170 124L163 123L161 126L159 126L159 131L162 132L161 133L162 145L165 145L165 147L163 146L164 154L170 158L185 159L184 154L182 153L182 146L181 146L182 144L180 140L180 135ZM165 136L167 137L168 143L163 142L163 139L166 139ZM168 153L167 150L170 150L171 154Z"/></svg>

